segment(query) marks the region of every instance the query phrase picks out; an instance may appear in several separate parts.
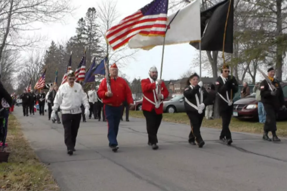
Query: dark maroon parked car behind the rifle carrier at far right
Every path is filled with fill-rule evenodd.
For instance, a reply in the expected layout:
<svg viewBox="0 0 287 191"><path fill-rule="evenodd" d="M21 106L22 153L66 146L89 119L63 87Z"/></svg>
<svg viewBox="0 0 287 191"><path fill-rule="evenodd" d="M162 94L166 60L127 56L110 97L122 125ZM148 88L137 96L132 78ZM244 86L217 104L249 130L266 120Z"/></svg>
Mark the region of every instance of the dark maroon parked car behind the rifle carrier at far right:
<svg viewBox="0 0 287 191"><path fill-rule="evenodd" d="M285 97L285 106L287 107L287 83L280 84ZM258 102L255 99L255 93L235 101L233 104L233 117L238 119L258 120L257 104ZM287 111L281 109L276 117L279 120L287 119Z"/></svg>

